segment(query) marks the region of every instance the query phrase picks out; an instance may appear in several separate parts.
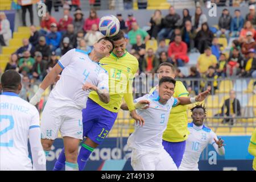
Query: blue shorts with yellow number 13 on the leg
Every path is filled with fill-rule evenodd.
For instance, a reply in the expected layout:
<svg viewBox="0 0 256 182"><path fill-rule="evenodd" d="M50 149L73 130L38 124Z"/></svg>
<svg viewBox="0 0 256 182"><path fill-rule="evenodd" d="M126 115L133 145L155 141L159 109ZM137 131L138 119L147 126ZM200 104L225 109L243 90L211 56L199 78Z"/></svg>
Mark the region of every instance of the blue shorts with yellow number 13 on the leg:
<svg viewBox="0 0 256 182"><path fill-rule="evenodd" d="M117 114L106 110L88 98L86 108L82 110L83 137L88 137L93 142L101 144L112 129Z"/></svg>

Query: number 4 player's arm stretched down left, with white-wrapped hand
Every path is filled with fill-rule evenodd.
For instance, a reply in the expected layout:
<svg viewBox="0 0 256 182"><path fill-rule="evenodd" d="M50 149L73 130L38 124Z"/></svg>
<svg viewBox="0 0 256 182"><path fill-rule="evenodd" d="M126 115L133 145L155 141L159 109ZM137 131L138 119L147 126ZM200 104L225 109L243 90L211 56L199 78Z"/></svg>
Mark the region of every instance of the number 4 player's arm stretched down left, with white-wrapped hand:
<svg viewBox="0 0 256 182"><path fill-rule="evenodd" d="M63 68L61 68L59 64L56 64L52 68L51 72L49 72L46 75L46 77L44 78L42 84L40 85L40 88L35 93L35 96L33 96L31 98L30 104L36 105L40 101L41 96L42 96L44 90L46 90L49 85L51 85L51 84L53 84L55 82L55 78L59 76L61 71L63 71Z"/></svg>

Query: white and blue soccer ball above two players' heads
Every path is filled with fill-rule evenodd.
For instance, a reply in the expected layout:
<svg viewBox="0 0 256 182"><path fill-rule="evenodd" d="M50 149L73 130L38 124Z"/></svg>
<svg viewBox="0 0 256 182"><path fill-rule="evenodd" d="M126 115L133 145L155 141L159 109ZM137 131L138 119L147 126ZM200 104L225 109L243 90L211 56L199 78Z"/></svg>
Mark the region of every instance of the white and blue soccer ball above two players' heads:
<svg viewBox="0 0 256 182"><path fill-rule="evenodd" d="M98 29L104 36L114 36L119 32L120 22L114 15L103 16L98 24Z"/></svg>

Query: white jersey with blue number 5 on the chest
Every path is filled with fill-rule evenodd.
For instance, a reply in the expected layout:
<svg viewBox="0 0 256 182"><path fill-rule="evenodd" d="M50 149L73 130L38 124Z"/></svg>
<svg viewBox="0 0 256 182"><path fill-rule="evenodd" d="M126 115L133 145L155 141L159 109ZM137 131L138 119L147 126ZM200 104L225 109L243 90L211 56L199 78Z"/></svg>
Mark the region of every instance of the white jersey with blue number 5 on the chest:
<svg viewBox="0 0 256 182"><path fill-rule="evenodd" d="M155 151L163 148L162 135L167 127L170 111L176 99L171 97L166 105L162 105L151 98L152 94L146 94L137 98L134 102L141 100L150 101L150 107L145 110L137 110L137 113L144 118L144 126L135 126L135 131L130 135L127 144L131 148L143 151ZM153 96L154 97L154 96Z"/></svg>

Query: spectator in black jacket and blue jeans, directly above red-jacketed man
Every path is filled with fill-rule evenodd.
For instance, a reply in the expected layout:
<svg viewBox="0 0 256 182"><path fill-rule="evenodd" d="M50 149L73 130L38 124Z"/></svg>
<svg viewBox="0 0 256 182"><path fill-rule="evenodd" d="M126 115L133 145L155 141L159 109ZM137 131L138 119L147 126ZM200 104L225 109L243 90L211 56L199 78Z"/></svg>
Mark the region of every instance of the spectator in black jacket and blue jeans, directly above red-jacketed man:
<svg viewBox="0 0 256 182"><path fill-rule="evenodd" d="M180 15L177 14L175 12L175 9L173 6L171 6L169 8L169 14L166 15L166 17L164 18L163 20L163 28L162 30L160 30L160 32L158 33L158 38L161 40L161 39L164 39L164 38L167 38L167 39L170 39L171 38L171 34L172 34L172 31L174 31L174 29L179 26L179 24L177 24L177 22L179 21L180 19Z"/></svg>

